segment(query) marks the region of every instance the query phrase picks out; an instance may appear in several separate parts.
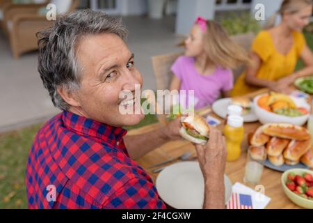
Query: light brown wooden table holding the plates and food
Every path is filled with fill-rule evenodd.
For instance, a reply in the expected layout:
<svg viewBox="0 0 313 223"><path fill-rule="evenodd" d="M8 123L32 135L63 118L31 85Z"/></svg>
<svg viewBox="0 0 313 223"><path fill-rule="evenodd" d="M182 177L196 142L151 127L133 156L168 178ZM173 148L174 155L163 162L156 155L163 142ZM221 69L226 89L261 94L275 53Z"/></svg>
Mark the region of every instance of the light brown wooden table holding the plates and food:
<svg viewBox="0 0 313 223"><path fill-rule="evenodd" d="M256 93L252 93L247 96L254 97L255 95L262 93L264 91L266 91L266 89L257 91ZM205 114L204 110L202 110L202 114ZM218 118L215 114L210 115ZM241 146L242 149L241 157L239 158L239 160L236 160L235 162L227 162L226 164L225 174L227 174L230 180L232 180L233 184L236 182L243 183L243 176L246 165L246 151L248 148L247 135L248 133L257 129L259 125L261 125L259 122L245 123L244 125L245 139L243 140L243 144ZM129 131L128 134L142 134L145 132L150 132L152 130L157 130L160 127L161 127L160 123L154 123L152 125L147 125L143 128L131 130ZM222 130L223 125L218 126L218 128ZM141 167L143 167L147 171L148 174L150 174L150 176L155 182L155 179L157 178L158 174L153 174L152 169L147 169L147 167L150 167L152 164L156 164L163 160L167 160L168 158L171 157L178 157L179 155L182 155L182 153L185 152L192 152L193 155L196 155L194 146L188 141L185 140L171 141L167 144L164 144L163 146L160 146L159 148L155 149L154 151L148 153L147 155L141 157L139 160L136 161L138 162L138 164L141 165ZM280 183L281 176L282 176L281 172L273 171L272 169L264 167L260 185L264 185L266 196L271 198L271 202L268 203L268 206L266 206L266 208L271 209L300 208L299 206L296 206L296 204L292 203L288 199L288 197L284 194L282 190L282 185Z"/></svg>

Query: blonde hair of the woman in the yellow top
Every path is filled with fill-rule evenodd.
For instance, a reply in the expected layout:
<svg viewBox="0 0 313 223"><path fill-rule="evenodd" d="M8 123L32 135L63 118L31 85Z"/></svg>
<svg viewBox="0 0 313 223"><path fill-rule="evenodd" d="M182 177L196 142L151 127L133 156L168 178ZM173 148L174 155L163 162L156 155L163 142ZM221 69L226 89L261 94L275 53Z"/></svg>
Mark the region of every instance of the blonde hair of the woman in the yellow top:
<svg viewBox="0 0 313 223"><path fill-rule="evenodd" d="M312 6L312 0L284 0L282 1L282 5L280 9L275 12L271 17L268 18L266 24L263 29L271 29L275 26L276 18L278 15L284 15L284 13L298 13L300 10L307 6Z"/></svg>

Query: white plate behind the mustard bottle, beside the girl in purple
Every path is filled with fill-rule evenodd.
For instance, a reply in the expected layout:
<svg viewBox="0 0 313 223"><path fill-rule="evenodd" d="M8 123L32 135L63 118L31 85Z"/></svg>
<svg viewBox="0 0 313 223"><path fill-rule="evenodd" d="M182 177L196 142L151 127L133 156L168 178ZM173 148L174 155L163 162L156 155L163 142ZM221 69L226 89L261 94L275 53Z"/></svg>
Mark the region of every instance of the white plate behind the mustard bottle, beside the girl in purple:
<svg viewBox="0 0 313 223"><path fill-rule="evenodd" d="M220 118L226 118L227 107L228 105L230 105L231 101L232 101L231 98L222 98L220 100L216 100L216 102L214 102L212 105L213 112L220 116ZM258 118L255 115L255 108L253 107L252 102L251 102L251 112L243 116L243 121L245 123L252 123L258 121Z"/></svg>

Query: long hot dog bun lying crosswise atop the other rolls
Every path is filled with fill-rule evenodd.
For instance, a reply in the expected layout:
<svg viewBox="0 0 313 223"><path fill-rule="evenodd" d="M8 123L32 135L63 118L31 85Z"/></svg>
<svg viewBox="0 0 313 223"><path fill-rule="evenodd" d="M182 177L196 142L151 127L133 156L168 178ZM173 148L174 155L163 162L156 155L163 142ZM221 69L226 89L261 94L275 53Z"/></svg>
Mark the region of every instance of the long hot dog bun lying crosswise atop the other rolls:
<svg viewBox="0 0 313 223"><path fill-rule="evenodd" d="M310 134L303 127L287 123L268 123L263 125L263 132L271 137L280 137L304 141L310 139Z"/></svg>

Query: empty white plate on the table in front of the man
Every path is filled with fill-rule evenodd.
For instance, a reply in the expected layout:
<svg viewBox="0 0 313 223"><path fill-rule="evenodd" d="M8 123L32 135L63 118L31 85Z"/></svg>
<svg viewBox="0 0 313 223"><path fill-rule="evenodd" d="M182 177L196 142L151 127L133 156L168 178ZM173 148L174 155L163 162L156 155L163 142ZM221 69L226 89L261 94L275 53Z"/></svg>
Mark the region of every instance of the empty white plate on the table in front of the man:
<svg viewBox="0 0 313 223"><path fill-rule="evenodd" d="M232 183L227 176L225 203L232 195ZM204 201L204 179L198 162L177 162L159 174L157 191L169 206L177 209L202 209Z"/></svg>

